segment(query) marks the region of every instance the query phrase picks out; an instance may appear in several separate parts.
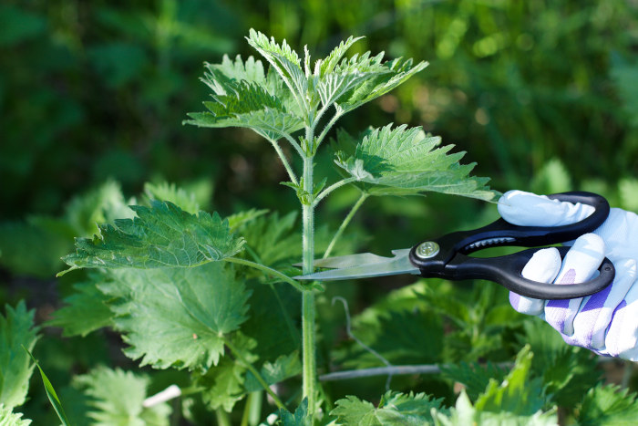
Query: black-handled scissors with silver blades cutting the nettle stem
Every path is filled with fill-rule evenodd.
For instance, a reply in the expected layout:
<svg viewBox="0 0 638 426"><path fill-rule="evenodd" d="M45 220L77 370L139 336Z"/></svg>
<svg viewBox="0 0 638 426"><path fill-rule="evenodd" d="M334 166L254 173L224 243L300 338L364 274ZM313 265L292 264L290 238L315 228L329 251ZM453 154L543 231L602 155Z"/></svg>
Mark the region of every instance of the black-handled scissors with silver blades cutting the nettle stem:
<svg viewBox="0 0 638 426"><path fill-rule="evenodd" d="M569 203L585 203L595 210L581 222L563 226L518 226L499 219L482 228L446 234L423 241L412 248L392 250L393 257L363 253L327 257L314 266L331 270L294 276L301 280L344 280L372 276L412 274L448 280L486 279L507 287L520 296L539 299L570 299L590 296L612 283L615 270L605 257L592 280L573 285L539 283L521 275L523 266L538 248L499 257L472 257L478 250L503 245L539 247L575 240L594 231L607 219L609 203L592 192L562 192L549 198ZM561 258L570 247L557 247Z"/></svg>

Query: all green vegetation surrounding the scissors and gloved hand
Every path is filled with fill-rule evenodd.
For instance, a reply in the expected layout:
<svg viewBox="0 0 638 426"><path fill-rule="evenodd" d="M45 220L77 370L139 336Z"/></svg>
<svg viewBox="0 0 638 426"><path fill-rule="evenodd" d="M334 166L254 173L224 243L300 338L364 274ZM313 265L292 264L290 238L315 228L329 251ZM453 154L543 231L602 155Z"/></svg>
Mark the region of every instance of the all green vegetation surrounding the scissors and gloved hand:
<svg viewBox="0 0 638 426"><path fill-rule="evenodd" d="M487 223L494 192L473 174L638 210L636 17L513 0L0 6L0 422L634 419L631 364L567 347L499 286L291 276ZM185 122L214 129L180 126L201 100Z"/></svg>

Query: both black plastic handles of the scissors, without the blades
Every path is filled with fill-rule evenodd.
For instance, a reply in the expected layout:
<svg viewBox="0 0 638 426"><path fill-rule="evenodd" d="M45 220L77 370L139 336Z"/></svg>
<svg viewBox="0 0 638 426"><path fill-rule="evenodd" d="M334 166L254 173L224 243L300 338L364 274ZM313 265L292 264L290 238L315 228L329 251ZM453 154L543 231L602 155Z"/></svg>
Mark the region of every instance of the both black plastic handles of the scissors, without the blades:
<svg viewBox="0 0 638 426"><path fill-rule="evenodd" d="M444 235L432 242L439 247L436 255L424 258L417 255L415 245L410 251L410 262L417 266L424 277L446 279L487 279L509 288L521 296L542 299L569 299L588 296L612 283L615 271L612 262L605 258L601 274L586 283L569 286L539 283L523 278L521 271L538 249L525 250L514 255L475 258L469 253L483 248L501 245L535 247L565 243L582 234L596 230L607 219L609 203L592 192L562 192L548 195L551 199L569 203L584 203L594 207L594 212L578 223L562 226L518 226L499 219L482 228ZM561 257L569 247L560 247Z"/></svg>

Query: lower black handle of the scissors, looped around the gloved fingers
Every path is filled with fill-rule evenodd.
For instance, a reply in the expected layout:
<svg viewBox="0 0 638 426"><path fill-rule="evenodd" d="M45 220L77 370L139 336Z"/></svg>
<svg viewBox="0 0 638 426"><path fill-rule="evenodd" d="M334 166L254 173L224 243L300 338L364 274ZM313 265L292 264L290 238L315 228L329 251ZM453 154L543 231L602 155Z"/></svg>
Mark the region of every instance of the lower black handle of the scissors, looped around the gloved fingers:
<svg viewBox="0 0 638 426"><path fill-rule="evenodd" d="M571 247L556 247L564 258ZM524 278L523 267L539 249L531 248L513 255L478 258L458 255L448 264L451 279L487 279L499 283L520 296L537 299L571 299L590 296L612 284L615 269L612 261L605 257L598 268L600 274L578 284L546 284Z"/></svg>

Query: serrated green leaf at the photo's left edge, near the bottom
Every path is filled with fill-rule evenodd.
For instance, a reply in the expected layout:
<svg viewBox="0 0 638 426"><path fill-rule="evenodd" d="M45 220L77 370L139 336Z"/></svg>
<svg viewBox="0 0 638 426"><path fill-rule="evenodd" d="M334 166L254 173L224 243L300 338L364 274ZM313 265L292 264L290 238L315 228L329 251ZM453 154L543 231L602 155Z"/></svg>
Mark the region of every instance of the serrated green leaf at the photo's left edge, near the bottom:
<svg viewBox="0 0 638 426"><path fill-rule="evenodd" d="M0 404L8 410L25 402L35 367L24 349L36 346L33 316L34 311L27 311L24 301L15 308L6 305L5 316L0 316Z"/></svg>

